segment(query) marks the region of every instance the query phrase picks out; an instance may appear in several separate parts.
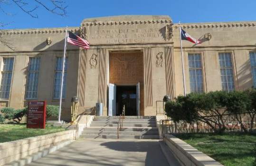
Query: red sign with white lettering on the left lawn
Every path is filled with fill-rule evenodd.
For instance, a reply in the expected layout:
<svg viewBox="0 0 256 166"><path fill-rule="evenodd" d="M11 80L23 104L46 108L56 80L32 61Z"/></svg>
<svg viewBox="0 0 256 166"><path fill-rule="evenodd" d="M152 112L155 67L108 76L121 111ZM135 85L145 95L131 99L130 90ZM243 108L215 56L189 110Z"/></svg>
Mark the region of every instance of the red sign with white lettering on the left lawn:
<svg viewBox="0 0 256 166"><path fill-rule="evenodd" d="M28 102L27 128L45 129L46 101Z"/></svg>

